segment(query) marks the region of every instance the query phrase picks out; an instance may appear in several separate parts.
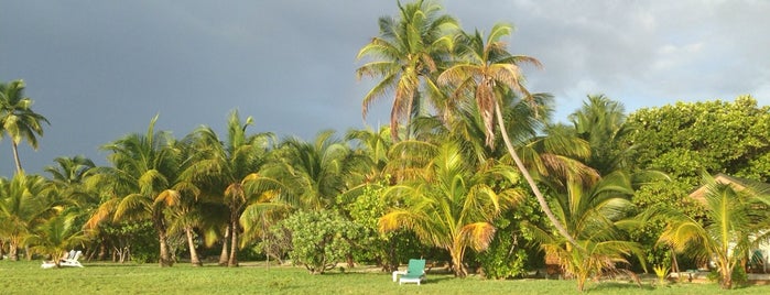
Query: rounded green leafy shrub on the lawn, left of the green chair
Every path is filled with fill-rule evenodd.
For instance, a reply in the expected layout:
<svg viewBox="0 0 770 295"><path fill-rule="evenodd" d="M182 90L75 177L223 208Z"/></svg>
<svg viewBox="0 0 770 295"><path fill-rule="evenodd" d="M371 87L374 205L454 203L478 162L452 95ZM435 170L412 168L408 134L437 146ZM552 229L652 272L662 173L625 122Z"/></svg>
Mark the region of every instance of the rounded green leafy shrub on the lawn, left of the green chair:
<svg viewBox="0 0 770 295"><path fill-rule="evenodd" d="M351 254L351 241L361 237L360 226L328 210L297 211L273 227L275 236L291 234L289 256L312 274L332 270Z"/></svg>

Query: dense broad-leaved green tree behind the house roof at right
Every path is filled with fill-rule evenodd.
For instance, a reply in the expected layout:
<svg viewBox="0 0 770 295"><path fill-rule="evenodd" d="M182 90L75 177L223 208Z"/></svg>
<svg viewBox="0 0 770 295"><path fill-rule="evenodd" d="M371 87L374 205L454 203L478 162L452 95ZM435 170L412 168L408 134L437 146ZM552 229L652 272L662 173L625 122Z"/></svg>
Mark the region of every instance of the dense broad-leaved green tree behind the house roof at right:
<svg viewBox="0 0 770 295"><path fill-rule="evenodd" d="M659 170L694 187L701 171L770 179L770 107L750 96L735 101L677 102L628 118L639 168Z"/></svg>

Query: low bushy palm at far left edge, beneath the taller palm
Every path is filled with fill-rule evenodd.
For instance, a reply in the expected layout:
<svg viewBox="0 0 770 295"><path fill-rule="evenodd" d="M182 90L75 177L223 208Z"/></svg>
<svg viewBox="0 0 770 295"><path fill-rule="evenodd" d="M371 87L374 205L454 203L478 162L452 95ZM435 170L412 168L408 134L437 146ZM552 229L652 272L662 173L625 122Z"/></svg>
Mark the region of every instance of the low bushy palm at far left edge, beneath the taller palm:
<svg viewBox="0 0 770 295"><path fill-rule="evenodd" d="M0 236L9 239L12 261L19 260L19 247L35 226L63 209L61 204L45 196L46 186L45 178L23 172L10 182L0 178Z"/></svg>

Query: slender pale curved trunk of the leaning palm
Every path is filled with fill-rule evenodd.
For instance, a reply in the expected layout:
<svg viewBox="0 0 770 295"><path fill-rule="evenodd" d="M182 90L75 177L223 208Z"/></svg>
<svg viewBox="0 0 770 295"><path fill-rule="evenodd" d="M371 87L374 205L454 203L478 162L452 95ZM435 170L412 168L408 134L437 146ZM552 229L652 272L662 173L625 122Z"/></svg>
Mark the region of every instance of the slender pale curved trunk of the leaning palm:
<svg viewBox="0 0 770 295"><path fill-rule="evenodd" d="M524 163L521 162L521 159L519 159L519 155L516 153L516 150L513 150L513 144L511 144L510 138L508 138L508 131L506 130L506 123L505 120L502 119L502 111L500 110L500 103L495 100L495 112L497 114L497 122L498 125L500 127L500 133L502 133L502 141L506 143L506 149L508 149L508 153L513 157L513 162L516 162L516 166L519 168L521 174L524 176L524 179L527 179L527 183L530 185L530 188L532 188L532 193L534 194L535 198L538 198L538 204L540 204L540 208L543 210L545 216L551 220L551 223L553 223L553 227L556 228L556 231L558 231L560 234L562 234L570 243L575 245L577 249L583 249L577 244L577 241L570 234L570 232L564 228L562 222L558 221L556 216L551 211L551 207L549 207L547 201L545 201L545 197L543 196L543 193L540 192L540 188L538 188L538 184L535 184L534 179L532 178L532 175L530 175L530 172L527 170L524 166Z"/></svg>

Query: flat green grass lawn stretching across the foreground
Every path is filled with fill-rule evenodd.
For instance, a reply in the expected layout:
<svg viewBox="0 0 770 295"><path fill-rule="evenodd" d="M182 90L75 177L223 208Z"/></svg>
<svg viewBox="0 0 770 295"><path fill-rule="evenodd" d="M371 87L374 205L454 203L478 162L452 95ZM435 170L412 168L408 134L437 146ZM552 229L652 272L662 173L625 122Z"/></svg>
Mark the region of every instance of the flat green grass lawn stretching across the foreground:
<svg viewBox="0 0 770 295"><path fill-rule="evenodd" d="M177 264L84 263L84 269L43 270L40 261L0 261L0 294L577 294L574 281L465 280L427 275L427 282L399 285L391 275L359 267L311 275L302 267L247 263L240 267ZM724 294L716 284L677 283L640 288L628 282L589 283L587 294ZM770 294L770 286L747 286L733 294Z"/></svg>

